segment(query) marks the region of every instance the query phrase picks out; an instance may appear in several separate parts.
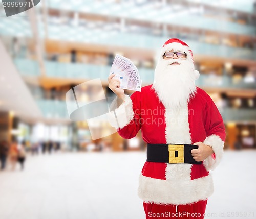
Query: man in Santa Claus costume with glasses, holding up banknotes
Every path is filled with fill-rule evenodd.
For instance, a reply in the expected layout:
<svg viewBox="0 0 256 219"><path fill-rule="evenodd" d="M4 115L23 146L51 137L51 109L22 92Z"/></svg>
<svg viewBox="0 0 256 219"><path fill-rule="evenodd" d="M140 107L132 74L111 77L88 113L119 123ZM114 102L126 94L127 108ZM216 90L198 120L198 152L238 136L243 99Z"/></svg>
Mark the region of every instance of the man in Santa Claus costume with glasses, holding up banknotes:
<svg viewBox="0 0 256 219"><path fill-rule="evenodd" d="M203 218L214 191L209 171L222 158L225 127L210 96L195 85L192 51L179 39L165 42L154 83L131 97L113 77L111 124L127 139L141 129L147 143L138 189L146 219Z"/></svg>

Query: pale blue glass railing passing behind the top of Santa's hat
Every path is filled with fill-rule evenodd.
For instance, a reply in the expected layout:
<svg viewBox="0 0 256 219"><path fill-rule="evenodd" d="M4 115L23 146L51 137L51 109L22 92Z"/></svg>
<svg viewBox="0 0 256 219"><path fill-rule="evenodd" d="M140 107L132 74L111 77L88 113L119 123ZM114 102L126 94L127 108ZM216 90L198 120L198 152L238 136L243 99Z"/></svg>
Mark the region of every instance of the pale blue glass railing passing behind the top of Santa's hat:
<svg viewBox="0 0 256 219"><path fill-rule="evenodd" d="M54 31L54 37L60 40L71 40L72 36L63 35L64 38L58 36L57 30ZM67 27L59 32L67 33ZM86 31L87 32L87 31ZM159 37L153 36L150 34L136 34L136 33L121 33L110 31L108 33L102 30L90 30L87 32L87 36L84 38L79 38L81 33L73 36L72 40L82 41L84 43L92 44L101 44L102 46L123 46L123 47L132 47L132 48L144 48L147 50L158 51L162 47L163 42L165 42L168 37ZM98 36L98 37L95 37ZM99 40L100 38L100 40ZM230 47L225 45L214 45L209 43L204 43L200 41L190 40L189 38L180 37L181 40L184 40L189 47L193 50L194 54L207 55L207 56L216 56L219 58L234 58L234 59L249 59L256 60L256 50L251 50L248 48L237 48Z"/></svg>

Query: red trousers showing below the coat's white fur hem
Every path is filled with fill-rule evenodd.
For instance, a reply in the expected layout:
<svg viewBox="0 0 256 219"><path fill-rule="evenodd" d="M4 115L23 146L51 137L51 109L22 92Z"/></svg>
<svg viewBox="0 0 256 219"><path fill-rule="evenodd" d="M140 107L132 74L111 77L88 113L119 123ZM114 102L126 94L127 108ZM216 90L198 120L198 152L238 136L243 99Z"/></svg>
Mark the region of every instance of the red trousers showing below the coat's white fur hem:
<svg viewBox="0 0 256 219"><path fill-rule="evenodd" d="M187 205L158 205L143 203L146 219L202 219L207 200Z"/></svg>

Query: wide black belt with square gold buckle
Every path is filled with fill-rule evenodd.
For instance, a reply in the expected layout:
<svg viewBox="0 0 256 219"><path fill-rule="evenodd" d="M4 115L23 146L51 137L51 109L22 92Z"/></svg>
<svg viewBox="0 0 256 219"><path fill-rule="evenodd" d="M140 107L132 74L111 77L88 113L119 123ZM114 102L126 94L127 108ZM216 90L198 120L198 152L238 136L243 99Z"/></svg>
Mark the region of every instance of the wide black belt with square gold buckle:
<svg viewBox="0 0 256 219"><path fill-rule="evenodd" d="M192 144L147 144L146 161L202 164L201 161L194 160L191 155L192 149L198 149L198 146Z"/></svg>

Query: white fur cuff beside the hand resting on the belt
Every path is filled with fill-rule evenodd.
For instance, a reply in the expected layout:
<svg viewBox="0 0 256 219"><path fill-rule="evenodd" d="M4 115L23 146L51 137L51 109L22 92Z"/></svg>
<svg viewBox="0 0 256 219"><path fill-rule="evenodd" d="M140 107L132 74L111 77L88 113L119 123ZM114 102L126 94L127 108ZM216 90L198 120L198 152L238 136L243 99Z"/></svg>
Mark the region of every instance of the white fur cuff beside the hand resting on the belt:
<svg viewBox="0 0 256 219"><path fill-rule="evenodd" d="M222 159L224 141L221 140L218 135L210 135L205 138L203 143L206 145L210 145L215 153L215 159L212 156L209 156L204 161L204 165L207 171L209 171L210 169L213 170L216 168L216 166L218 166Z"/></svg>

